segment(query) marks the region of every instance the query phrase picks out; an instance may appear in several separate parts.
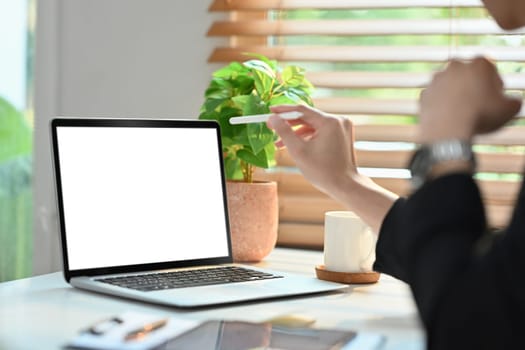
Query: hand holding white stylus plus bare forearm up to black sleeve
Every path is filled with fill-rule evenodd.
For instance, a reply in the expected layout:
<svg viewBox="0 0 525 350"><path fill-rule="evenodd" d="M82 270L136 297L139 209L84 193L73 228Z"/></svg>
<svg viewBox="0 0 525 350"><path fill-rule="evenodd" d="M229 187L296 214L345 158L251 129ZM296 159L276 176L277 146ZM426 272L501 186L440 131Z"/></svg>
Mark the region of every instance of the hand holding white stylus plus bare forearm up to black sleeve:
<svg viewBox="0 0 525 350"><path fill-rule="evenodd" d="M397 195L357 172L352 122L306 106L275 106L271 110L303 114L297 120L285 121L278 116L268 120L268 127L281 136L277 145L286 145L308 181L354 211L378 233Z"/></svg>

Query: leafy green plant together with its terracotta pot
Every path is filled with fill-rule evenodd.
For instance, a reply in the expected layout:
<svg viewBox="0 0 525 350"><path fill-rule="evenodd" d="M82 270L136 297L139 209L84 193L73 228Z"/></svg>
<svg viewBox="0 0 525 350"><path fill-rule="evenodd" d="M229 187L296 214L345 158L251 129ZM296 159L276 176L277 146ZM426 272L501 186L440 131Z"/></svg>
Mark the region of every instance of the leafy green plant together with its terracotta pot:
<svg viewBox="0 0 525 350"><path fill-rule="evenodd" d="M257 167L275 164L276 136L265 123L231 125L232 117L269 113L280 104L312 105L304 69L262 55L231 62L213 73L199 119L219 122L228 179L228 206L235 261L259 261L277 240L277 184L254 181Z"/></svg>

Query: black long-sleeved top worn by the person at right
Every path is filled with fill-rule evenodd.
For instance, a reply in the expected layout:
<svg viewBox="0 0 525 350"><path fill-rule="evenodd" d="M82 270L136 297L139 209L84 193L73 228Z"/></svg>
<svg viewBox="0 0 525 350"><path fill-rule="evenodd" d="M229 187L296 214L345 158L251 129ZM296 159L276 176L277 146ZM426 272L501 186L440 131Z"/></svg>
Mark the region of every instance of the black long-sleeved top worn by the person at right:
<svg viewBox="0 0 525 350"><path fill-rule="evenodd" d="M487 234L478 187L463 174L426 184L385 217L374 268L409 283L429 348L499 349L521 341L523 201L522 192L500 239Z"/></svg>

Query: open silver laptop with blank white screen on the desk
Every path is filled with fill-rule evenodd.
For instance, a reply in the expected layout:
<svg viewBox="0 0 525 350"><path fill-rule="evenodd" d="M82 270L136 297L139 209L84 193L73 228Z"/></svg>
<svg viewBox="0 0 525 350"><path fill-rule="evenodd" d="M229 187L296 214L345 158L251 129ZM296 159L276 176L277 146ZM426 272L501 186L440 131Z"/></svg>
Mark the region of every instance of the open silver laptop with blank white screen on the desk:
<svg viewBox="0 0 525 350"><path fill-rule="evenodd" d="M215 121L59 117L51 135L72 286L180 308L346 287L233 263Z"/></svg>

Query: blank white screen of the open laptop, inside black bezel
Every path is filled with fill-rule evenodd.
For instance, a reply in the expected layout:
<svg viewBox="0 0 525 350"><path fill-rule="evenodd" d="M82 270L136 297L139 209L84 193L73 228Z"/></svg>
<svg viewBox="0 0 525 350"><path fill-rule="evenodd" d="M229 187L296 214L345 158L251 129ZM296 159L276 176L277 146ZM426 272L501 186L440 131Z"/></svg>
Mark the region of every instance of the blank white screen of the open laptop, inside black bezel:
<svg viewBox="0 0 525 350"><path fill-rule="evenodd" d="M57 129L69 268L228 256L216 130Z"/></svg>

